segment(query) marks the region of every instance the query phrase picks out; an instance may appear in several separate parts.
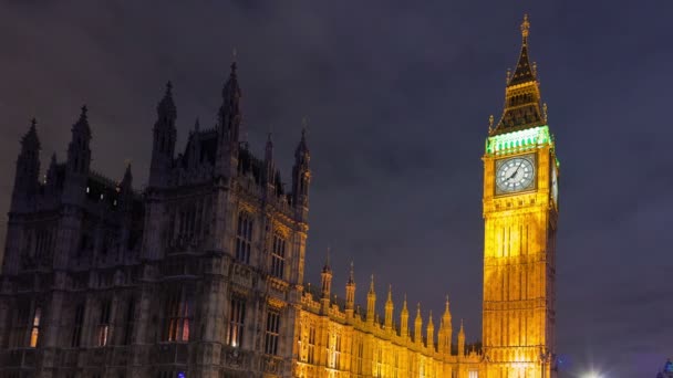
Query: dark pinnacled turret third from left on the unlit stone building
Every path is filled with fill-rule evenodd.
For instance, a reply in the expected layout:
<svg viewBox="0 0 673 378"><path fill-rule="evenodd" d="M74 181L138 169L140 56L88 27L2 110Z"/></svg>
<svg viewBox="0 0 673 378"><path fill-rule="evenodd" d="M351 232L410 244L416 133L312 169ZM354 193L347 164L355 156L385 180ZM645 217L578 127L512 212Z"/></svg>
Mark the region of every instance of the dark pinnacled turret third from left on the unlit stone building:
<svg viewBox="0 0 673 378"><path fill-rule="evenodd" d="M152 162L149 165L149 187L164 188L168 185L173 155L175 153L177 111L173 102L173 85L166 84L164 98L156 107L157 118L153 128Z"/></svg>

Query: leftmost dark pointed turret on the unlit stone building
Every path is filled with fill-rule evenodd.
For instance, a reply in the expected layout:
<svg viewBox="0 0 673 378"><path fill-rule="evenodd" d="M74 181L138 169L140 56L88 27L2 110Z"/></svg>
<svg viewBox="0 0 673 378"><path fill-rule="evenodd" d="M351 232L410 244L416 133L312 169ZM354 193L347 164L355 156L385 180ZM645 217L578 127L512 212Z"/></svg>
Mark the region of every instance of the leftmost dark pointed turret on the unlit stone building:
<svg viewBox="0 0 673 378"><path fill-rule="evenodd" d="M35 128L37 120L32 119L28 133L21 138L21 151L17 158L14 190L12 192L11 211L27 211L32 199L38 193L40 176L40 139Z"/></svg>

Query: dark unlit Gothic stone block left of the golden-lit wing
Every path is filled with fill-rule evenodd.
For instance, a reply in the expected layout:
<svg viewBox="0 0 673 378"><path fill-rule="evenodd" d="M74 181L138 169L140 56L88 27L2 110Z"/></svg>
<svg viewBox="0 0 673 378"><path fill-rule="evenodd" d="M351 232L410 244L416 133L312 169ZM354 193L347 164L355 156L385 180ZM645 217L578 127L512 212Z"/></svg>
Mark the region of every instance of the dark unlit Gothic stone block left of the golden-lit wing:
<svg viewBox="0 0 673 378"><path fill-rule="evenodd" d="M289 376L308 232L309 149L286 192L269 138L239 140L236 65L213 129L175 156L170 85L148 187L90 169L86 108L66 161L39 178L22 140L1 277L2 377Z"/></svg>

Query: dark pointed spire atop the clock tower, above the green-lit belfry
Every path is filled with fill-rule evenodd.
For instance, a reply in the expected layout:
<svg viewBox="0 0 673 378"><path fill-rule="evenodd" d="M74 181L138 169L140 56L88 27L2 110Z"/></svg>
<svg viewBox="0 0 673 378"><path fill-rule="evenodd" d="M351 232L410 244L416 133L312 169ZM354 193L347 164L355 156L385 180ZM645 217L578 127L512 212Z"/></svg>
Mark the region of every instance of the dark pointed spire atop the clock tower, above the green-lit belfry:
<svg viewBox="0 0 673 378"><path fill-rule="evenodd" d="M505 90L505 109L498 124L490 135L515 132L524 128L541 126L546 123L542 112L540 86L537 80L535 63L530 64L528 55L528 35L530 22L528 14L521 23L521 52L512 74L507 75Z"/></svg>

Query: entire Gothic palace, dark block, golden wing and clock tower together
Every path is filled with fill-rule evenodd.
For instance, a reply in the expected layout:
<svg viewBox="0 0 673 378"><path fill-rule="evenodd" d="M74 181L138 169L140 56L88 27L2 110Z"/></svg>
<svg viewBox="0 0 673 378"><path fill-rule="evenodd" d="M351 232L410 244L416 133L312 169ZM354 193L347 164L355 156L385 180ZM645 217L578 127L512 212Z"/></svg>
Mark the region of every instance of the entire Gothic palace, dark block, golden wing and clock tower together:
<svg viewBox="0 0 673 378"><path fill-rule="evenodd" d="M211 129L176 148L172 86L157 106L148 185L91 169L86 107L68 156L40 175L35 123L21 140L0 275L0 377L556 377L558 160L529 23L484 160L480 348L465 345L448 301L384 314L374 279L355 304L329 262L304 285L310 153L294 150L290 190L241 141L236 64ZM345 273L345 272L344 272ZM438 322L437 322L438 321ZM437 327L435 328L435 322Z"/></svg>

